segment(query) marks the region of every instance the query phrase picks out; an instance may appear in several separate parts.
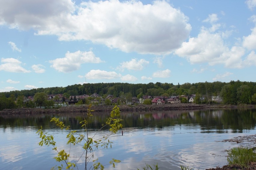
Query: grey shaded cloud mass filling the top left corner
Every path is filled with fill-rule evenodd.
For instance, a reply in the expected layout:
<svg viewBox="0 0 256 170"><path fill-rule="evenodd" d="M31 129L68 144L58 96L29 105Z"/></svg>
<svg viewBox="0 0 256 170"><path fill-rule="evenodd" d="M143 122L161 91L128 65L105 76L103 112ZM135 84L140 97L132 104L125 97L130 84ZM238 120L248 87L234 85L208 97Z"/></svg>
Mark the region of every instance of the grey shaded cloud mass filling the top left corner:
<svg viewBox="0 0 256 170"><path fill-rule="evenodd" d="M74 5L71 0L9 0L8 3L0 1L0 18L2 18L0 23L21 30L30 28L44 30L48 24L53 26L54 19L55 21L58 18L64 19L65 16L67 17L68 14L73 13ZM47 20L49 20L48 24ZM62 24L66 25L65 23Z"/></svg>

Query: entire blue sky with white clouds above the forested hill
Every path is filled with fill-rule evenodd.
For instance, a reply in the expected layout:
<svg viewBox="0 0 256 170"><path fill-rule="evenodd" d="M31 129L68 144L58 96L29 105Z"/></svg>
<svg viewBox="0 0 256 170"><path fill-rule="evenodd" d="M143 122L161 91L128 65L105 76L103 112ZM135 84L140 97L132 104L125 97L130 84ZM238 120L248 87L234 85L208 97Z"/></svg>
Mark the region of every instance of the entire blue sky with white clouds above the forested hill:
<svg viewBox="0 0 256 170"><path fill-rule="evenodd" d="M256 81L256 0L0 1L0 92Z"/></svg>

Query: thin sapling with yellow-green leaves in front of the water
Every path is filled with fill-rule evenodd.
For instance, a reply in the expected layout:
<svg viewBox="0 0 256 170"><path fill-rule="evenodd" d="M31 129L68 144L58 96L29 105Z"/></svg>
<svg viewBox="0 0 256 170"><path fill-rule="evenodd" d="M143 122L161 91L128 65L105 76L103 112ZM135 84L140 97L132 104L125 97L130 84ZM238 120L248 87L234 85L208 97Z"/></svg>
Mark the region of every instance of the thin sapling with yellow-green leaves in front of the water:
<svg viewBox="0 0 256 170"><path fill-rule="evenodd" d="M84 153L82 155L80 155L79 157L74 158L74 160L71 160L72 157L70 157L70 153L67 153L65 150L61 150L59 151L57 149L56 142L54 141L54 138L52 135L48 135L47 133L44 133L41 129L39 129L36 133L38 133L38 135L41 138L41 141L38 143L40 146L42 145L46 145L46 146L52 146L53 150L55 150L57 152L57 156L54 157L54 159L57 162L63 162L65 164L65 166L63 167L63 165L58 166L58 169L79 169L77 167L77 162L78 160L84 158L85 161L85 170L91 169L91 167L88 167L88 163L89 160L93 160L94 157L94 152L97 149L104 149L104 148L108 148L108 147L112 147L111 144L112 142L109 141L109 136L111 136L114 133L117 133L117 131L123 127L123 125L120 123L122 121L122 119L120 119L120 110L119 107L115 106L113 108L113 110L110 113L110 117L107 119L107 122L105 125L102 126L102 128L104 128L105 126L110 126L110 131L111 133L106 135L106 136L102 136L99 139L94 139L92 137L90 137L88 131L87 131L87 125L89 120L91 119L91 117L93 116L92 114L93 110L91 110L91 105L88 106L87 109L87 117L84 117L84 120L82 120L80 122L81 127L84 128L84 133L78 133L77 130L70 130L70 126L65 126L64 123L62 121L59 121L59 118L52 118L50 120L50 122L54 122L56 124L56 126L58 126L61 130L67 130L69 131L69 133L67 134L66 138L67 138L67 145L70 145L69 147L71 147L72 145L81 145L82 148L84 149ZM96 133L98 133L100 130L99 129ZM93 135L95 136L96 133ZM83 142L83 144L81 143ZM70 150L69 150L70 152ZM75 155L75 154L71 154L71 155ZM71 160L71 161L70 161ZM116 159L112 159L109 161L109 164L113 166L113 168L115 167L115 163L120 163L120 160L116 160ZM100 162L98 162L98 159L93 160L93 169L104 169L104 165L102 165Z"/></svg>

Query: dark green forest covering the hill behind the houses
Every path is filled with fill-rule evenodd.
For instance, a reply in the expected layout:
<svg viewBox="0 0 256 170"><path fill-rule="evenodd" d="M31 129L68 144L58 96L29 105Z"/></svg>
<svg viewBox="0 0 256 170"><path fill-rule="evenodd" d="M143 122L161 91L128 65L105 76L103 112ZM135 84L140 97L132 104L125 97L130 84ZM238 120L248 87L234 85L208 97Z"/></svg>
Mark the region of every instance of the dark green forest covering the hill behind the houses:
<svg viewBox="0 0 256 170"><path fill-rule="evenodd" d="M63 94L66 98L77 95L92 95L97 93L105 98L107 95L119 97L121 94L130 94L133 97L141 98L143 95L149 96L178 96L196 95L196 101L204 96L204 103L210 103L211 96L220 96L222 104L256 104L256 82L230 81L226 82L200 82L184 83L174 85L172 83L94 83L94 84L74 84L66 87L47 87L30 90L15 90L0 93L0 107L7 103L16 101L20 96L34 96L38 92L50 94ZM17 101L18 100L18 101ZM198 102L199 103L199 102Z"/></svg>

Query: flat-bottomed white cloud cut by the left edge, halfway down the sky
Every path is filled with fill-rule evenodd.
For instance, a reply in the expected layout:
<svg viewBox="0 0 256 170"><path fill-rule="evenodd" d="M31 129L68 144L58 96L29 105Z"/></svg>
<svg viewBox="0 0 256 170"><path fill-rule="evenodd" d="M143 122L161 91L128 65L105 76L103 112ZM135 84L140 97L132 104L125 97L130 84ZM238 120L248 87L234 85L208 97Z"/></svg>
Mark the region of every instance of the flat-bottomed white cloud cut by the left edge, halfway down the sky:
<svg viewBox="0 0 256 170"><path fill-rule="evenodd" d="M14 58L2 58L1 62L4 64L0 65L0 71L6 72L22 72L22 73L29 73L31 71L24 69L20 66L21 62Z"/></svg>

